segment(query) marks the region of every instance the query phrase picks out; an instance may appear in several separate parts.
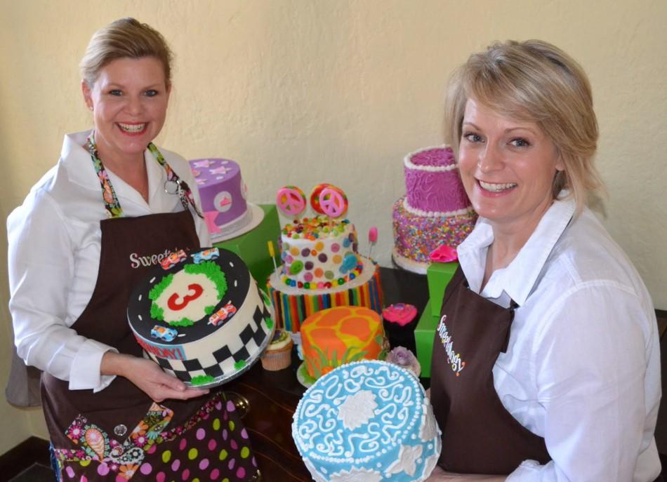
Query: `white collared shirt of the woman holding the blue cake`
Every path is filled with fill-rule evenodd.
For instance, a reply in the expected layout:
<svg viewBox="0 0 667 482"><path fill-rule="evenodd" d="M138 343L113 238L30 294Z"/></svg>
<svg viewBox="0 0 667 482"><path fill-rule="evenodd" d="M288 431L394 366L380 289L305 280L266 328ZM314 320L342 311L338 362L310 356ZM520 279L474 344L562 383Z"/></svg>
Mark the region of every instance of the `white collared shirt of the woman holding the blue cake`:
<svg viewBox="0 0 667 482"><path fill-rule="evenodd" d="M458 247L470 289L519 307L494 366L503 406L543 437L552 461L508 482L652 482L661 396L654 307L628 257L590 210L555 201L515 259L480 293L494 240L480 218ZM572 220L572 222L571 222Z"/></svg>

